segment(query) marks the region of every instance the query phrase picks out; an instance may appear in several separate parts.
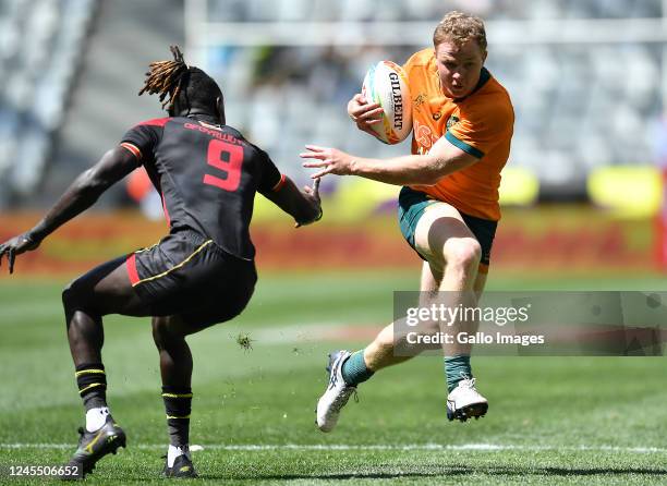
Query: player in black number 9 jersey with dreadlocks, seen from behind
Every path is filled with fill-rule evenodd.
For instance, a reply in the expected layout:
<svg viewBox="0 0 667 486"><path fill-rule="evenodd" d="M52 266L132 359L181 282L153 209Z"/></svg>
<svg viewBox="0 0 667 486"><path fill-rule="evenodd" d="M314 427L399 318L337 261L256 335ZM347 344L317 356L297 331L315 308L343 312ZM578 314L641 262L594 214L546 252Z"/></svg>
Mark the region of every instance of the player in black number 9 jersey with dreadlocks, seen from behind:
<svg viewBox="0 0 667 486"><path fill-rule="evenodd" d="M233 318L251 299L257 280L248 233L255 192L293 216L296 227L322 217L318 181L301 192L281 175L266 153L226 124L216 82L187 66L178 47L171 51L173 61L150 64L140 92L159 94L169 117L129 130L41 221L0 245L0 263L7 256L12 272L16 255L35 250L140 166L162 197L167 236L90 270L62 293L86 410L70 465L80 465L84 475L100 458L125 446L125 434L106 401L102 316L153 316L170 439L163 472L195 476L189 451L192 354L185 337Z"/></svg>

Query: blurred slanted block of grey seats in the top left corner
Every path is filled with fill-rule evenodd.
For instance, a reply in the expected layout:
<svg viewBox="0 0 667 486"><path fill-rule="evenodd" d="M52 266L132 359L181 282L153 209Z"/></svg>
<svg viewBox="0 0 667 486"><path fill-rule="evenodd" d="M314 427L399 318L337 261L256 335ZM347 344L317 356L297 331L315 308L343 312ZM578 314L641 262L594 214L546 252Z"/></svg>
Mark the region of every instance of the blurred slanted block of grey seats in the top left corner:
<svg viewBox="0 0 667 486"><path fill-rule="evenodd" d="M0 206L41 180L95 4L0 2Z"/></svg>

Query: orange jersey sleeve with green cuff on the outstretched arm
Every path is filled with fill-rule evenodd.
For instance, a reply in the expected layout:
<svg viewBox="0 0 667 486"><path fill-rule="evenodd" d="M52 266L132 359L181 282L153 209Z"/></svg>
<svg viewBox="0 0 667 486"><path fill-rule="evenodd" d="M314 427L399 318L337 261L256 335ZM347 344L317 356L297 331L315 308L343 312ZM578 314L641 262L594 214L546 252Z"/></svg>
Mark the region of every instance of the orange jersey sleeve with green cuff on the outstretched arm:
<svg viewBox="0 0 667 486"><path fill-rule="evenodd" d="M447 141L478 159L507 138L512 131L511 111L502 106L478 107L461 112L461 119L447 130Z"/></svg>

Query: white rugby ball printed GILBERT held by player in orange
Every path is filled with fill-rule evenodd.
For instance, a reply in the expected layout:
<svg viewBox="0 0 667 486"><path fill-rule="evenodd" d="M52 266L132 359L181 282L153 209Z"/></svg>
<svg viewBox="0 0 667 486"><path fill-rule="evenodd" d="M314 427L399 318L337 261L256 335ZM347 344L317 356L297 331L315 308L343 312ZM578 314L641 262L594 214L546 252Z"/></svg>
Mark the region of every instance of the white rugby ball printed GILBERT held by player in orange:
<svg viewBox="0 0 667 486"><path fill-rule="evenodd" d="M403 68L391 61L378 62L366 73L362 95L383 107L381 122L371 125L377 138L389 145L404 141L412 131L412 98Z"/></svg>

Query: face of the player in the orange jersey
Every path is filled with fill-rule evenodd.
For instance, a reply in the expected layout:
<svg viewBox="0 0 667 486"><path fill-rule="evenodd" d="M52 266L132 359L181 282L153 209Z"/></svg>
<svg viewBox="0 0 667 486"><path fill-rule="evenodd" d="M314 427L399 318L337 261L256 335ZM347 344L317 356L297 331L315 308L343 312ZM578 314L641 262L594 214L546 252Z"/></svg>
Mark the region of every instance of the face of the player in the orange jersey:
<svg viewBox="0 0 667 486"><path fill-rule="evenodd" d="M460 47L446 40L436 47L435 57L445 95L450 98L470 95L480 81L486 51L474 40Z"/></svg>

